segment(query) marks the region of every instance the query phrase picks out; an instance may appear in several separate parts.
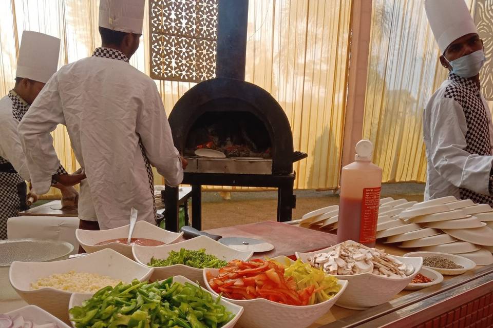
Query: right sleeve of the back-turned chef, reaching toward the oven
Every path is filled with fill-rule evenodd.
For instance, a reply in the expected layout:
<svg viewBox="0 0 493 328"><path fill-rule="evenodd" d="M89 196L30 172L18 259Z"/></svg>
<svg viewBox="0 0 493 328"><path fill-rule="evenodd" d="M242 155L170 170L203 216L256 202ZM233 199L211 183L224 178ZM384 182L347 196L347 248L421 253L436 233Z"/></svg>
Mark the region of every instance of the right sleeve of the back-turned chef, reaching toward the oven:
<svg viewBox="0 0 493 328"><path fill-rule="evenodd" d="M153 83L154 85L154 83ZM182 161L173 143L166 112L156 85L147 95L137 117L137 133L149 162L170 186L178 186L183 180Z"/></svg>

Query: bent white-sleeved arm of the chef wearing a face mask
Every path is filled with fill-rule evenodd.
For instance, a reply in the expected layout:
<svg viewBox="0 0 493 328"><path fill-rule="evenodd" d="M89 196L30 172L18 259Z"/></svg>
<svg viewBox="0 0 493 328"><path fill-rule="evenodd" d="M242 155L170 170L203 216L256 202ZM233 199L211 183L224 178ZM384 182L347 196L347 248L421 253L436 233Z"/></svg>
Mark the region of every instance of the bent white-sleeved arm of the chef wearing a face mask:
<svg viewBox="0 0 493 328"><path fill-rule="evenodd" d="M462 107L452 99L443 99L433 108L430 125L429 151L434 169L458 188L489 195L493 156L465 150L467 123Z"/></svg>

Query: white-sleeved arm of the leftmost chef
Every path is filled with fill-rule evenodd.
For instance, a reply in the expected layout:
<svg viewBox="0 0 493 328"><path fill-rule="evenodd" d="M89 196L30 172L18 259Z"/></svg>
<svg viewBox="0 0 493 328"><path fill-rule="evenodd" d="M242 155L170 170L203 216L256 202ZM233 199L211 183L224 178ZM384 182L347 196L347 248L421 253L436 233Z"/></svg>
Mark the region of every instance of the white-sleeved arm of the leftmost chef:
<svg viewBox="0 0 493 328"><path fill-rule="evenodd" d="M26 181L29 181L29 170L27 169L26 157L22 151L21 140L17 132L19 122L15 118L6 120L0 129L0 149L15 171Z"/></svg>

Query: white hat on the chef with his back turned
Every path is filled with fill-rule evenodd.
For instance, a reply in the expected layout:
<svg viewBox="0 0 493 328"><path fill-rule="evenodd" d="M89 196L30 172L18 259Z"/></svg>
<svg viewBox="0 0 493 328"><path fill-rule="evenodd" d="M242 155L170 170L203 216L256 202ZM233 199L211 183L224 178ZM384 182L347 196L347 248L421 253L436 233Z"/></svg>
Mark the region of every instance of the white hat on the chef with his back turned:
<svg viewBox="0 0 493 328"><path fill-rule="evenodd" d="M99 26L113 31L142 34L145 0L100 0Z"/></svg>

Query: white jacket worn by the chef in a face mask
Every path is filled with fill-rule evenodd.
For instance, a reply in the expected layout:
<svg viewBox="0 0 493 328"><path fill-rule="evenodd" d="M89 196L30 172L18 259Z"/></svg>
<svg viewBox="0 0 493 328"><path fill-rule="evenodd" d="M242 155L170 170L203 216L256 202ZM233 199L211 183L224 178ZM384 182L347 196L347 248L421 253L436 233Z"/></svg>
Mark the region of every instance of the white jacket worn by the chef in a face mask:
<svg viewBox="0 0 493 328"><path fill-rule="evenodd" d="M423 114L423 136L428 162L425 200L444 196L460 199L460 188L489 195L489 177L493 156L470 154L465 135L466 118L462 106L444 93L452 81L445 80L433 94ZM493 145L491 114L483 96L487 111L489 140Z"/></svg>

